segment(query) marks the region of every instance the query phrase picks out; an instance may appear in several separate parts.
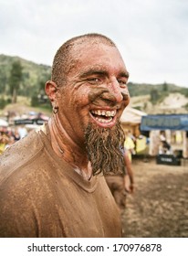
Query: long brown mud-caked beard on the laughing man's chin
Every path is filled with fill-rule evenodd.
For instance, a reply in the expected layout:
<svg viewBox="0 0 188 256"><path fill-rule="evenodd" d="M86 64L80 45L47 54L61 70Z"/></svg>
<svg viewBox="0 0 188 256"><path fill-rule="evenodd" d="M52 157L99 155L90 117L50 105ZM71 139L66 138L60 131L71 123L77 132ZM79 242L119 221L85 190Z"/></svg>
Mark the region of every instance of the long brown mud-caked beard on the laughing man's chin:
<svg viewBox="0 0 188 256"><path fill-rule="evenodd" d="M85 139L94 176L99 173L122 173L125 164L120 148L124 147L125 135L120 122L112 128L99 128L89 123Z"/></svg>

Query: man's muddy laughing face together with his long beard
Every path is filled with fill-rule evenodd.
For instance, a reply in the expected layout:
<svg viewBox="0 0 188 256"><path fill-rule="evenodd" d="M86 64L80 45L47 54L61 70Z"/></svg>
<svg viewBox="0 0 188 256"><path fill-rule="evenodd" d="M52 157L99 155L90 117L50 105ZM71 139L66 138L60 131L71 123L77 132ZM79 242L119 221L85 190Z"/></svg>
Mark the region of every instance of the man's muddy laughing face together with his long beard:
<svg viewBox="0 0 188 256"><path fill-rule="evenodd" d="M130 101L128 71L115 47L85 44L71 54L66 85L57 91L57 122L88 155L94 175L117 173L124 165L120 116Z"/></svg>

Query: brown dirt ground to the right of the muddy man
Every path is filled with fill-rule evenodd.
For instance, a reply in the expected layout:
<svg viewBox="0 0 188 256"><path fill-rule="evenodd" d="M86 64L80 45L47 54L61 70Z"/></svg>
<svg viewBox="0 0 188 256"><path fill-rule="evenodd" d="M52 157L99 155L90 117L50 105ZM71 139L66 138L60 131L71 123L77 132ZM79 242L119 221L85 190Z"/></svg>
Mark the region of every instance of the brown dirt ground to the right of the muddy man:
<svg viewBox="0 0 188 256"><path fill-rule="evenodd" d="M123 237L188 238L188 160L157 165L133 159L136 189L122 215Z"/></svg>

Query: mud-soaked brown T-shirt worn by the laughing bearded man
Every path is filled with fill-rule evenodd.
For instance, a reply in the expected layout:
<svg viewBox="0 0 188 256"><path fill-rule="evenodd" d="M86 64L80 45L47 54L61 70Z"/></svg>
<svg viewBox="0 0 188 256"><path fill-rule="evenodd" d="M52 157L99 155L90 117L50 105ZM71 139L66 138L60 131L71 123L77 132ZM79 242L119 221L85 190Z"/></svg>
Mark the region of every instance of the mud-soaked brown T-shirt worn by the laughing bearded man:
<svg viewBox="0 0 188 256"><path fill-rule="evenodd" d="M83 179L53 151L44 126L0 156L0 237L120 237L103 176Z"/></svg>

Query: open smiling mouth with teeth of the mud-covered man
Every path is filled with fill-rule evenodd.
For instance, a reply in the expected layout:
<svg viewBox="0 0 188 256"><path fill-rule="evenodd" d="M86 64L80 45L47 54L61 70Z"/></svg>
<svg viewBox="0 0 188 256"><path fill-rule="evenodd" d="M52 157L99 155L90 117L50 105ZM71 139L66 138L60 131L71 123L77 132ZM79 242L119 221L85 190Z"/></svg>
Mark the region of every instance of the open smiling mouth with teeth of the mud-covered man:
<svg viewBox="0 0 188 256"><path fill-rule="evenodd" d="M114 116L116 115L116 110L106 111L106 110L92 110L90 111L92 117L99 123L110 123Z"/></svg>

